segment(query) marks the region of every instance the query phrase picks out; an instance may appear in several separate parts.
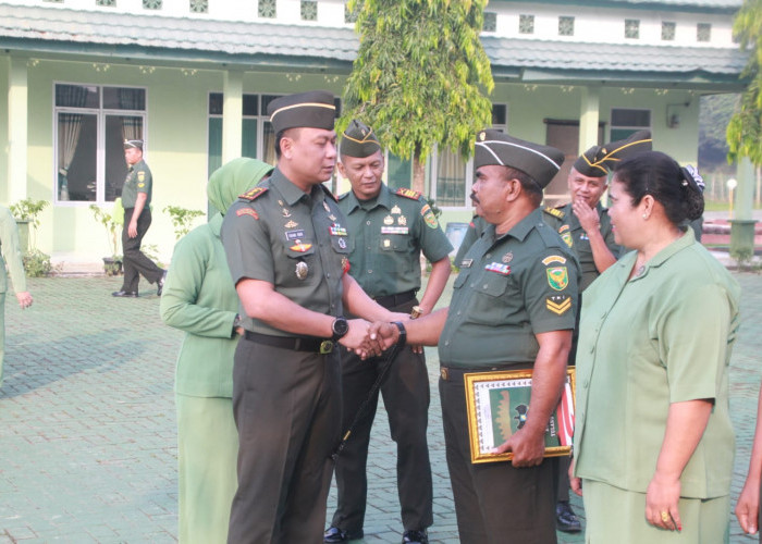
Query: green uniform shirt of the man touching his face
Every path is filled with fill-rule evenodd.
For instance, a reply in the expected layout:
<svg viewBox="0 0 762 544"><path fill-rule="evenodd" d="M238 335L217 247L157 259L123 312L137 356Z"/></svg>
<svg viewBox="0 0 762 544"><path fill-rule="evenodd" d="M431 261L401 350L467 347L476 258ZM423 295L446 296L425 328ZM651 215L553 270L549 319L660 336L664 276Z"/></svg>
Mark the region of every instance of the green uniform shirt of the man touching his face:
<svg viewBox="0 0 762 544"><path fill-rule="evenodd" d="M601 202L598 202L595 210L598 211L598 217L601 219L601 235L603 236L606 247L614 254L615 258L618 258L622 252L622 247L614 242L614 232L611 227L609 210L603 208ZM590 238L588 238L582 225L579 224L577 215L572 211L572 203L567 203L563 208L545 208L543 211L545 223L558 231L563 240L566 242L577 256L582 272L582 277L579 282L579 292L581 293L601 275L592 258Z"/></svg>

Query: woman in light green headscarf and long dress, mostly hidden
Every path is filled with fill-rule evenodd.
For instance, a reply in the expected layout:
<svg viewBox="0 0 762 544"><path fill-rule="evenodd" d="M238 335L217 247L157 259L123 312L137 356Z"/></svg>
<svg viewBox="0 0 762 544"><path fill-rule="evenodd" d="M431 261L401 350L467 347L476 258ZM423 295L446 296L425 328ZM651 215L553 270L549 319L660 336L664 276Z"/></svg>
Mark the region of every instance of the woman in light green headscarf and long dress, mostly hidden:
<svg viewBox="0 0 762 544"><path fill-rule="evenodd" d="M238 296L220 240L222 217L272 166L234 159L214 171L207 196L219 211L175 246L160 302L161 319L185 331L177 356L175 404L180 542L224 543L237 486L238 434L233 420L233 354Z"/></svg>

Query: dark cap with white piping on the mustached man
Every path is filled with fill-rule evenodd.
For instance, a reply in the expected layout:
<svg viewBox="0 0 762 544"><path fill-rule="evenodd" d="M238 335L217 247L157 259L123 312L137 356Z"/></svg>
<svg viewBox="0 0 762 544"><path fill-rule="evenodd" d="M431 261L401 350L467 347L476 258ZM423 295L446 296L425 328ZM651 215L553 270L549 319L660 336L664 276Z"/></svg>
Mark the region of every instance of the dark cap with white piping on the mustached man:
<svg viewBox="0 0 762 544"><path fill-rule="evenodd" d="M564 153L551 146L533 144L507 134L487 129L477 135L474 169L497 164L520 170L541 188L545 188L558 173Z"/></svg>

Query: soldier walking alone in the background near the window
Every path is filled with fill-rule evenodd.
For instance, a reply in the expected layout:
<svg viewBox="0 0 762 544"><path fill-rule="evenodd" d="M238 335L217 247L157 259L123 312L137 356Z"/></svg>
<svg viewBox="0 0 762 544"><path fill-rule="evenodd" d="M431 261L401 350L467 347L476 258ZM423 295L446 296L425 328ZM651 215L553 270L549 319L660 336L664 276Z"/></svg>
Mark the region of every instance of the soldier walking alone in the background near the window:
<svg viewBox="0 0 762 544"><path fill-rule="evenodd" d="M161 295L167 271L157 267L140 251L143 237L151 225L150 205L153 189L151 171L146 161L143 160L143 140L125 140L124 159L127 161L127 177L122 188L124 281L122 288L113 292L112 295L114 297L137 297L140 274L150 283L157 284L157 295Z"/></svg>

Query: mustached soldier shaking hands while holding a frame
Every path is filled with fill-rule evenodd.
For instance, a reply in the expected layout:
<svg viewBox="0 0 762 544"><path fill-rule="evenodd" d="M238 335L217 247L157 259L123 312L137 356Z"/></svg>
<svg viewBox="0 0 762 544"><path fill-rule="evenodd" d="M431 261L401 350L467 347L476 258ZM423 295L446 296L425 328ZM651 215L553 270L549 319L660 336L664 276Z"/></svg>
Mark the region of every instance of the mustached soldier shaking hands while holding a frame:
<svg viewBox="0 0 762 544"><path fill-rule="evenodd" d="M561 397L577 305L578 265L542 221L542 189L557 149L479 133L471 199L489 225L466 252L448 309L374 323L384 346L439 344L440 398L460 542L554 543L555 465L544 432ZM532 369L524 425L495 449L513 460L471 463L464 374Z"/></svg>

